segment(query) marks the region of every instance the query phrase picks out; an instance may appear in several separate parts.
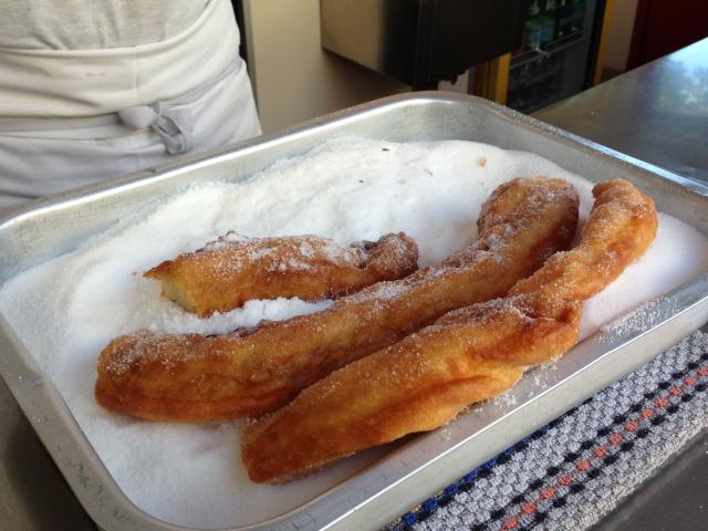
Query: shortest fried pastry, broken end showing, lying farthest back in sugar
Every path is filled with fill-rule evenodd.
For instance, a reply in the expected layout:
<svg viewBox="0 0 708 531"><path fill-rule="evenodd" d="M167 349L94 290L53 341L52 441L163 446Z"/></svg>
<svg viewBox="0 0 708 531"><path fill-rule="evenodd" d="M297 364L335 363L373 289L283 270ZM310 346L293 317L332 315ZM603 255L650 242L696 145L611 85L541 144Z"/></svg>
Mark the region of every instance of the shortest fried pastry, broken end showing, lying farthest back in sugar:
<svg viewBox="0 0 708 531"><path fill-rule="evenodd" d="M206 317L251 299L337 298L406 277L417 262L418 247L403 232L350 247L317 236L247 238L229 232L144 277L159 280L164 296Z"/></svg>

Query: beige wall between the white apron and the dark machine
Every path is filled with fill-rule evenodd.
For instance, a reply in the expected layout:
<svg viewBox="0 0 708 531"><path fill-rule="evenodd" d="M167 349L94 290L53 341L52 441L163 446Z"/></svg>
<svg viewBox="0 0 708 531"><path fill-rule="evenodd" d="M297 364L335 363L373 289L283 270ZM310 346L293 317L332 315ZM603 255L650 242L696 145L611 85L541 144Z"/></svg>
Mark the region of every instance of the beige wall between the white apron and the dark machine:
<svg viewBox="0 0 708 531"><path fill-rule="evenodd" d="M410 88L320 48L320 0L244 0L264 133Z"/></svg>

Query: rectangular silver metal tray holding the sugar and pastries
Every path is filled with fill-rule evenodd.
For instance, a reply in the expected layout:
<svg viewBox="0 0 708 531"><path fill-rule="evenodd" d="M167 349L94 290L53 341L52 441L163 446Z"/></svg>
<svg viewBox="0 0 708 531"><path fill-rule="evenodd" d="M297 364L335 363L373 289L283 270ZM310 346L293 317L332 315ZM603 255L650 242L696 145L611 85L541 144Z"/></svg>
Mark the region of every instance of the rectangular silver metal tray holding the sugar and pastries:
<svg viewBox="0 0 708 531"><path fill-rule="evenodd" d="M590 180L638 184L660 210L708 232L708 187L485 100L416 93L373 102L285 131L30 204L0 220L0 283L67 252L126 214L195 181L237 181L322 142L357 135L391 142L467 139L534 152ZM524 435L645 364L708 321L708 275L646 310L646 330L596 334L552 369L516 387L516 405L473 407L445 430L407 439L373 466L275 519L238 529L376 529ZM0 374L94 521L106 530L177 530L123 494L53 383L0 315ZM236 494L238 496L238 494ZM235 528L237 529L237 528Z"/></svg>

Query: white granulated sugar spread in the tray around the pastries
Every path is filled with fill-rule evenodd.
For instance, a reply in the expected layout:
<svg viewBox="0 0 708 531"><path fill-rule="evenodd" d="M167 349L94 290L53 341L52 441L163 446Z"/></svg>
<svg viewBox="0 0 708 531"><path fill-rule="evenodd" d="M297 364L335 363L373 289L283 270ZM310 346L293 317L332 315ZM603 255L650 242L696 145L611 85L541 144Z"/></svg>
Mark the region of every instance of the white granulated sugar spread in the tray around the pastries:
<svg viewBox="0 0 708 531"><path fill-rule="evenodd" d="M0 311L137 507L183 525L260 522L313 499L386 449L289 485L257 486L241 465L239 423L160 424L107 413L93 398L96 360L111 339L137 329L229 332L329 302L251 301L202 320L160 299L158 283L142 273L230 230L249 237L314 233L341 244L405 231L419 246L419 264L435 264L477 238L480 206L500 183L535 175L573 183L586 217L592 185L535 155L468 142L330 142L244 183L162 199L76 251L7 282ZM660 215L648 252L586 304L584 335L706 271L708 240Z"/></svg>

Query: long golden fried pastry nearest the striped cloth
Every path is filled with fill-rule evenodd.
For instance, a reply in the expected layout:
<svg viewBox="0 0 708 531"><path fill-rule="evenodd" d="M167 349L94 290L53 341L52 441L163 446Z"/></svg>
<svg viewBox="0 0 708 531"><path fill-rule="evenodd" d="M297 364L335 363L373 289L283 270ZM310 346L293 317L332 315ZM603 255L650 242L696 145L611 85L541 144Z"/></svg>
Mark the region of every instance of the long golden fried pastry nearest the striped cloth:
<svg viewBox="0 0 708 531"><path fill-rule="evenodd" d="M242 458L257 482L284 481L364 448L435 429L511 387L529 365L570 350L584 300L654 239L654 201L614 180L595 186L580 244L551 257L502 299L444 315L354 362L247 427Z"/></svg>

